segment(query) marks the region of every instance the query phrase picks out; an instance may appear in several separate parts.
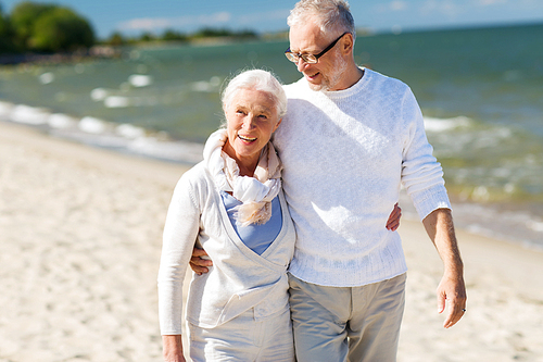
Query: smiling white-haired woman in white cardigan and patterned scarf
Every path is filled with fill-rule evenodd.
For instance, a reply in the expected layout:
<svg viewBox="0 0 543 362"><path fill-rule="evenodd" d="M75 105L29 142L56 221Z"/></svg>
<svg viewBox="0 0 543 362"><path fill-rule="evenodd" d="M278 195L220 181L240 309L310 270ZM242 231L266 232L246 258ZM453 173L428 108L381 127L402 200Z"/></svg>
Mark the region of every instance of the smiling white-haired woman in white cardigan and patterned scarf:
<svg viewBox="0 0 543 362"><path fill-rule="evenodd" d="M269 142L287 112L280 83L247 71L223 92L226 129L178 182L164 227L159 309L164 359L185 361L182 284L192 249L213 260L193 274L186 319L193 361L293 361L287 267L295 232Z"/></svg>

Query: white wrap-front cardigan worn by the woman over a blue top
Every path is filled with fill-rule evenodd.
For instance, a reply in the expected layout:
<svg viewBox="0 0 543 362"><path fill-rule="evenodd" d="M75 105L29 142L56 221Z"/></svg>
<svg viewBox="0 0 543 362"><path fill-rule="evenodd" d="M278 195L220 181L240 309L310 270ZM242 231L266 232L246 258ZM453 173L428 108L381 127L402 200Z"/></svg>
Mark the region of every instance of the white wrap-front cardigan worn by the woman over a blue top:
<svg viewBox="0 0 543 362"><path fill-rule="evenodd" d="M164 227L159 271L162 335L181 334L182 285L194 245L207 252L214 266L206 274L192 276L188 322L215 327L251 308L255 320L263 320L289 307L287 269L295 232L282 191L279 199L281 230L258 255L238 237L203 162L182 175Z"/></svg>

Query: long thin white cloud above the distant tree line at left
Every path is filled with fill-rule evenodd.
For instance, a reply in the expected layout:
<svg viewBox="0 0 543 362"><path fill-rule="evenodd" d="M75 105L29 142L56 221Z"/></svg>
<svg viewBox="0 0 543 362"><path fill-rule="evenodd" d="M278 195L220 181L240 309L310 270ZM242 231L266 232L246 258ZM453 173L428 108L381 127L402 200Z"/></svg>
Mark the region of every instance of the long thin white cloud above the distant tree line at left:
<svg viewBox="0 0 543 362"><path fill-rule="evenodd" d="M141 17L122 22L117 25L119 30L157 30L164 28L178 28L187 26L225 25L231 20L229 12L219 12L209 15L178 16L178 17Z"/></svg>

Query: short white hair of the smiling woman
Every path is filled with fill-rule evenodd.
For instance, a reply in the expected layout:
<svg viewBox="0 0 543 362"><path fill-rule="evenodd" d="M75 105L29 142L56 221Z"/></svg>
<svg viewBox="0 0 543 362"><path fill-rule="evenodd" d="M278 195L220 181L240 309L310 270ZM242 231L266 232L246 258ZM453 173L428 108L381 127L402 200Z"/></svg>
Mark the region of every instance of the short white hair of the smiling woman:
<svg viewBox="0 0 543 362"><path fill-rule="evenodd" d="M277 114L282 118L287 114L287 95L281 83L269 72L263 70L243 71L235 76L223 90L220 100L226 111L232 98L240 89L262 90L275 100Z"/></svg>

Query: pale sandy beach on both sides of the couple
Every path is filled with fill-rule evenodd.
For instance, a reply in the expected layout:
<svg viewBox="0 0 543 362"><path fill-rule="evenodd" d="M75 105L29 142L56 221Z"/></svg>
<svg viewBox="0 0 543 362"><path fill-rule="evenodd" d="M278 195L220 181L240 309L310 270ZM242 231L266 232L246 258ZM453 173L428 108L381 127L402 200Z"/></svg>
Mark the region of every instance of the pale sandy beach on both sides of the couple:
<svg viewBox="0 0 543 362"><path fill-rule="evenodd" d="M0 122L0 361L161 361L162 228L186 167ZM543 253L457 230L468 311L442 327L420 223L399 361L543 361Z"/></svg>

